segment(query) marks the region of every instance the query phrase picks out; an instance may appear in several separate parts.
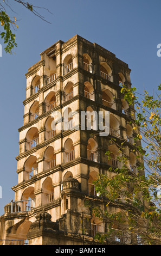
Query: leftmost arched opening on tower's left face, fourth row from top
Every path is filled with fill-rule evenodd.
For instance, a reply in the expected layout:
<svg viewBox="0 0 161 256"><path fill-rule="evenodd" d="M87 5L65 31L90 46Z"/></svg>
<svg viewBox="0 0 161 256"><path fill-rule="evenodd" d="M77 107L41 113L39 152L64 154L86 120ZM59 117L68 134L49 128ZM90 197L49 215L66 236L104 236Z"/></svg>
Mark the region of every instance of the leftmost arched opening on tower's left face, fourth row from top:
<svg viewBox="0 0 161 256"><path fill-rule="evenodd" d="M24 180L31 179L38 173L38 163L36 156L29 156L24 163Z"/></svg>

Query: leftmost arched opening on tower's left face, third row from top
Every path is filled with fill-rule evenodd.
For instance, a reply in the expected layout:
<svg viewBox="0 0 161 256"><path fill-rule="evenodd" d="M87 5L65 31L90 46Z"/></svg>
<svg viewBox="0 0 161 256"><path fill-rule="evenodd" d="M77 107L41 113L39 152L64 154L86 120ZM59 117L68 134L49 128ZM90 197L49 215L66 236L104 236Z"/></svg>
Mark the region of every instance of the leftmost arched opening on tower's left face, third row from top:
<svg viewBox="0 0 161 256"><path fill-rule="evenodd" d="M38 144L38 129L32 127L25 137L25 150L32 149Z"/></svg>

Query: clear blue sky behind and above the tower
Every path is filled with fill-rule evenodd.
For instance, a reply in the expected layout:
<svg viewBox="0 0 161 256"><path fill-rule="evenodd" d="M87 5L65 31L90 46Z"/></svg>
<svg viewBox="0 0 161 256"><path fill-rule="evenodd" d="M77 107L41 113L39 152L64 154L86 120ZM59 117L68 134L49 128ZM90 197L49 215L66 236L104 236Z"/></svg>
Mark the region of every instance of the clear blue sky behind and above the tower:
<svg viewBox="0 0 161 256"><path fill-rule="evenodd" d="M43 50L58 40L67 41L78 34L126 62L132 70L132 86L139 93L144 89L153 92L161 83L161 57L157 56L157 45L161 44L160 0L31 0L31 3L53 13L38 10L51 24L21 4L12 3L15 13L10 14L18 20L15 54L5 54L0 39L3 47L0 57L0 215L4 214L4 205L14 200L11 187L17 184L15 157L19 154L18 128L23 125L25 74L40 60Z"/></svg>

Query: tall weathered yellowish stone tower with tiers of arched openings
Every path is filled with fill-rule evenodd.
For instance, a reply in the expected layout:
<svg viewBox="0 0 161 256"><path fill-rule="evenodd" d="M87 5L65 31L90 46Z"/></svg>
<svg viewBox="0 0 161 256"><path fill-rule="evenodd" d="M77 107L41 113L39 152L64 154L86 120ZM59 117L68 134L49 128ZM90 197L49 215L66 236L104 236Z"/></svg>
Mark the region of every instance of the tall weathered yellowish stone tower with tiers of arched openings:
<svg viewBox="0 0 161 256"><path fill-rule="evenodd" d="M123 83L131 87L131 70L115 54L79 35L57 41L40 56L25 75L18 184L12 187L14 201L1 216L1 243L92 244L96 231L108 227L85 202L104 207L93 181L99 173L108 175L110 166L121 164L111 138L118 143L126 140L129 166L137 172L130 147L134 108L120 93ZM109 135L100 136L93 112L106 111L110 112ZM107 150L112 154L110 161Z"/></svg>

